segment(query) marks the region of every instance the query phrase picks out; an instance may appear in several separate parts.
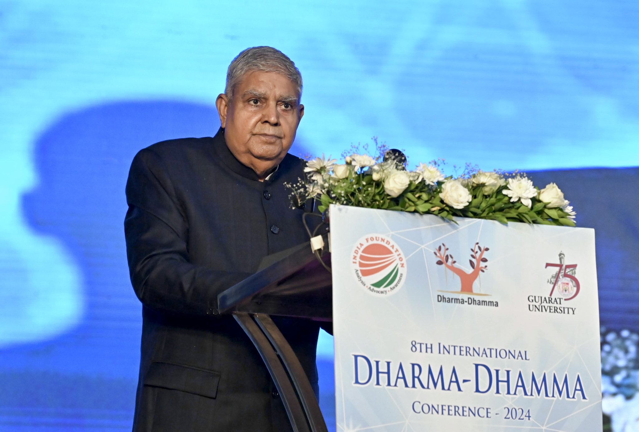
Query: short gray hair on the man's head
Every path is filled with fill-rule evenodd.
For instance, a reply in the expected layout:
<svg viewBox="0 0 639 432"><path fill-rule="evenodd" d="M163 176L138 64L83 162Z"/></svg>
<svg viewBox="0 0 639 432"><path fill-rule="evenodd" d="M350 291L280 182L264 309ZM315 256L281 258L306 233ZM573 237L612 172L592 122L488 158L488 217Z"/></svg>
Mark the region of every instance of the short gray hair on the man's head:
<svg viewBox="0 0 639 432"><path fill-rule="evenodd" d="M295 67L295 63L275 48L252 47L240 52L229 65L224 89L224 94L229 100L233 98L233 90L244 75L254 71L281 73L295 84L298 97L302 98L302 74Z"/></svg>

